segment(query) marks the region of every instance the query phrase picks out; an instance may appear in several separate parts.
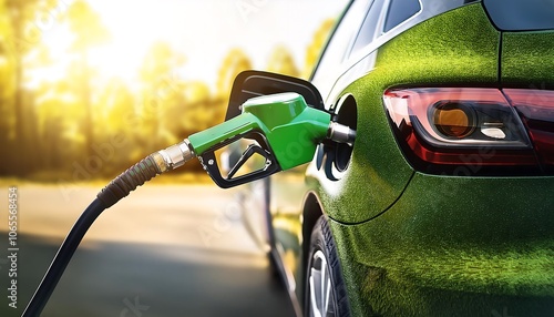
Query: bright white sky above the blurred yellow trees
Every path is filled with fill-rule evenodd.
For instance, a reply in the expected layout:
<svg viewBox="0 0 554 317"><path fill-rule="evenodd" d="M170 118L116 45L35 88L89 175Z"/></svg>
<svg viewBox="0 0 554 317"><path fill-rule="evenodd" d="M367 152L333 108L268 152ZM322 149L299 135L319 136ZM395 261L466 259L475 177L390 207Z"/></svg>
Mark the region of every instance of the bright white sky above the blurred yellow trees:
<svg viewBox="0 0 554 317"><path fill-rule="evenodd" d="M70 0L63 0L70 3ZM178 76L214 86L224 55L240 48L255 68L265 68L270 52L284 44L304 65L306 48L320 23L337 17L346 0L90 0L110 30L110 43L90 52L104 78L133 81L146 50L166 41L186 57ZM53 57L63 60L69 33L62 27L44 32ZM63 63L63 62L60 62ZM61 73L61 72L59 72Z"/></svg>

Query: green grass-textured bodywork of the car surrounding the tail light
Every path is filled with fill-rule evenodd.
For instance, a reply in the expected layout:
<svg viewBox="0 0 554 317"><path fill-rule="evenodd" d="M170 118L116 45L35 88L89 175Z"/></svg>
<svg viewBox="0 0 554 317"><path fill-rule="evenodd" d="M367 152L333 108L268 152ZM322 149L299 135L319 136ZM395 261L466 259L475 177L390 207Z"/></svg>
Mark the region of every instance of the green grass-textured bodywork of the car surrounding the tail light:
<svg viewBox="0 0 554 317"><path fill-rule="evenodd" d="M290 190L291 176L271 181L275 236L300 301L306 242L324 214L352 316L552 316L554 177L483 176L474 165L420 172L403 155L382 96L413 86L552 89L554 33L500 31L476 2L403 31L369 57L375 68L339 93L357 104L348 168L329 180L312 162L302 188Z"/></svg>

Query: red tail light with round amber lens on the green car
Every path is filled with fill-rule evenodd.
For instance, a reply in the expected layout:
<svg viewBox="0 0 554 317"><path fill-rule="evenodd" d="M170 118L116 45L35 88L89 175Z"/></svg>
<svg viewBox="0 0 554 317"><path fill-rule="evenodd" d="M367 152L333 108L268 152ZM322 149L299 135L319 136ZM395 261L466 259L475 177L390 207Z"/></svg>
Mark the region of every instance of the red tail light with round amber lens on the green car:
<svg viewBox="0 0 554 317"><path fill-rule="evenodd" d="M384 105L412 165L455 175L529 174L554 166L554 92L388 90Z"/></svg>

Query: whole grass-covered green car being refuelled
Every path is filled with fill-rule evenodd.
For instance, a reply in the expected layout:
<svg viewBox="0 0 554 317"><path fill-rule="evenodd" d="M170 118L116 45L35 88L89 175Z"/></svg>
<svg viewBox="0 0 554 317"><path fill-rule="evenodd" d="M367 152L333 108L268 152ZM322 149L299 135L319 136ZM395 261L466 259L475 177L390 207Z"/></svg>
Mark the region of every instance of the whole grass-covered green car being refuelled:
<svg viewBox="0 0 554 317"><path fill-rule="evenodd" d="M250 90L357 131L249 191L298 316L554 316L553 30L552 1L353 1L312 85Z"/></svg>

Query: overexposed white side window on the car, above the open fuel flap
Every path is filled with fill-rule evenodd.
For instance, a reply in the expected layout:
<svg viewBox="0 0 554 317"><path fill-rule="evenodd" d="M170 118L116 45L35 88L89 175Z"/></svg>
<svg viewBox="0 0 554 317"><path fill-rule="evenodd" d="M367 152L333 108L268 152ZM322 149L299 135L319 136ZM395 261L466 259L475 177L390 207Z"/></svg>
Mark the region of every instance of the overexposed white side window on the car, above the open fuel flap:
<svg viewBox="0 0 554 317"><path fill-rule="evenodd" d="M321 92L324 99L327 98L335 81L340 75L346 54L366 16L366 8L370 4L368 2L371 1L355 1L350 4L319 60L311 81Z"/></svg>

